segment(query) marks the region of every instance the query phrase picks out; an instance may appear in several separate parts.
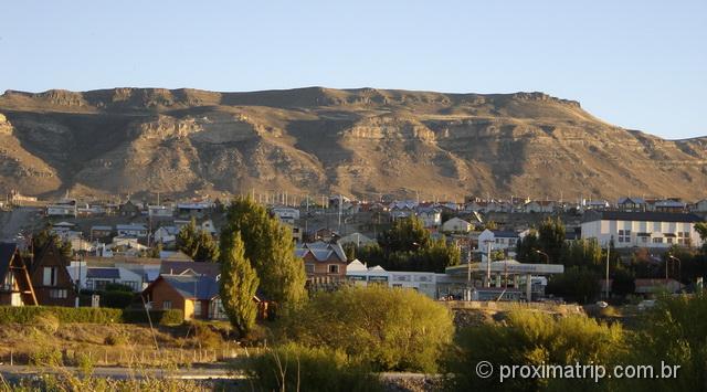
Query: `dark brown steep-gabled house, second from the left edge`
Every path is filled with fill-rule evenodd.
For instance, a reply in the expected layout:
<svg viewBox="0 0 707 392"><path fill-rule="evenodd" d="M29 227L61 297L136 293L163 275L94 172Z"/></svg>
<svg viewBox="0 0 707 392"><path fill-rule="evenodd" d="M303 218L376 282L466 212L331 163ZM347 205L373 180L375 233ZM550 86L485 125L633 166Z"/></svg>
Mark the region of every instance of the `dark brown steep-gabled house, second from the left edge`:
<svg viewBox="0 0 707 392"><path fill-rule="evenodd" d="M66 266L66 259L53 241L34 256L30 265L30 278L39 305L76 305L75 284Z"/></svg>

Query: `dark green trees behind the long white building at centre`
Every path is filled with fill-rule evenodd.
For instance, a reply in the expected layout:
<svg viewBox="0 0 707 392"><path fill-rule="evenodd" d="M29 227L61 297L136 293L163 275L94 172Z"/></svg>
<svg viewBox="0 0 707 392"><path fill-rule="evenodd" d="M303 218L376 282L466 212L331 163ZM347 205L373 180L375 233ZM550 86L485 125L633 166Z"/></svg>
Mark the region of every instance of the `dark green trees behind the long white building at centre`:
<svg viewBox="0 0 707 392"><path fill-rule="evenodd" d="M390 271L424 271L443 273L460 264L460 250L444 237L434 240L418 218L398 219L381 233L378 243L357 247L345 246L349 258L360 258Z"/></svg>

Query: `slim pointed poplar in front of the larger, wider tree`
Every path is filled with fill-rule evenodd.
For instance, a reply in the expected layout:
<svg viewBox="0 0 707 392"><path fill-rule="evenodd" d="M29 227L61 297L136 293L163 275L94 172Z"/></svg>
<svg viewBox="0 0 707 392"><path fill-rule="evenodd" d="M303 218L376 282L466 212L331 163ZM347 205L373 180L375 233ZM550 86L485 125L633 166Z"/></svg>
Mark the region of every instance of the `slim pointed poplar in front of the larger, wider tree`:
<svg viewBox="0 0 707 392"><path fill-rule="evenodd" d="M241 233L221 248L220 294L223 310L240 336L246 336L255 325L257 306L253 300L260 279L251 262L245 258Z"/></svg>

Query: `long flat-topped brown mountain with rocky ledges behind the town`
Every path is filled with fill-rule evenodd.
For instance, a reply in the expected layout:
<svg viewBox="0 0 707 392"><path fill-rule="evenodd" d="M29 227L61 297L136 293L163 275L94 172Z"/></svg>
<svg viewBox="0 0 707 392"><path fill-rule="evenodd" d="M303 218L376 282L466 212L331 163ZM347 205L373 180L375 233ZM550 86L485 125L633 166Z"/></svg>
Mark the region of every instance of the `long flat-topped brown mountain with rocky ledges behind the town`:
<svg viewBox="0 0 707 392"><path fill-rule="evenodd" d="M0 189L704 197L707 138L541 93L115 88L0 96Z"/></svg>

